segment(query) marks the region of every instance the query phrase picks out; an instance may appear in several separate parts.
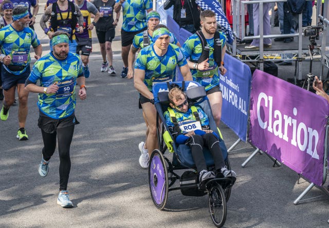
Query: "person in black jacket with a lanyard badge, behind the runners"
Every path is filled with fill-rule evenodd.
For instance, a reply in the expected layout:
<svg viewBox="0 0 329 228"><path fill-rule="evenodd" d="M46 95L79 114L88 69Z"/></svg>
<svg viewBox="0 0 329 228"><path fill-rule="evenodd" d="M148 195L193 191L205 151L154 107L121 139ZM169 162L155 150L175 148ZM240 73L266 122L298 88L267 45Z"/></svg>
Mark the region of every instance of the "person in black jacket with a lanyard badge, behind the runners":
<svg viewBox="0 0 329 228"><path fill-rule="evenodd" d="M163 4L165 10L174 6L174 20L180 28L191 33L200 29L200 11L195 0L167 0Z"/></svg>

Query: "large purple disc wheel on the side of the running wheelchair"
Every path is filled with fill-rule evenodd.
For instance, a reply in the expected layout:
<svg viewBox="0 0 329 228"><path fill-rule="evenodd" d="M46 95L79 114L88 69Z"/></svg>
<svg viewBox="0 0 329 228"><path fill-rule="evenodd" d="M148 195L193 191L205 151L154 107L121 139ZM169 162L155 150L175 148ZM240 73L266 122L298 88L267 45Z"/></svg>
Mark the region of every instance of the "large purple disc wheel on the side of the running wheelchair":
<svg viewBox="0 0 329 228"><path fill-rule="evenodd" d="M154 205L162 210L168 198L168 172L165 157L159 150L154 150L150 157L149 186Z"/></svg>

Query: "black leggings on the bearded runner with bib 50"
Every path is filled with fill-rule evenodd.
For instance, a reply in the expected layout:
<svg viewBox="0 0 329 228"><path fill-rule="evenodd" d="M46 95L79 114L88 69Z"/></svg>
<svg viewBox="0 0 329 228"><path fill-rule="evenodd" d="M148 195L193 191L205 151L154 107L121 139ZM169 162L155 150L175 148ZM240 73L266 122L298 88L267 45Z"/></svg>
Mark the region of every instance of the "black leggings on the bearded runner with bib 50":
<svg viewBox="0 0 329 228"><path fill-rule="evenodd" d="M58 128L55 133L49 134L42 132L44 148L42 149L43 158L49 161L56 149L56 136L58 139L58 152L60 155L60 191L66 191L68 176L71 169L70 146L74 133L74 125Z"/></svg>

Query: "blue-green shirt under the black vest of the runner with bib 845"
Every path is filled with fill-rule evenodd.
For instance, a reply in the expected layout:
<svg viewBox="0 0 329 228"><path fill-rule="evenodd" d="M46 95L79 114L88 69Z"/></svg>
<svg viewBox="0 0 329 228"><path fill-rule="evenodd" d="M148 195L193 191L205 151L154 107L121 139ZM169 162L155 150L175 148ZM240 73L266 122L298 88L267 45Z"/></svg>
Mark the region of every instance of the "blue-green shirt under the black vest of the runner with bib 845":
<svg viewBox="0 0 329 228"><path fill-rule="evenodd" d="M224 35L224 33L222 32L220 32L220 39L222 42L222 48L224 48L226 44L226 35ZM208 60L209 67L217 66L213 56L214 39L213 38L206 39L206 41L208 43L208 46L210 47L209 60ZM190 58L191 61L197 61L200 58L202 53L202 44L197 34L193 34L186 40L186 42L182 46L182 51L185 57L187 59ZM191 69L191 73L193 76L193 80L197 81L199 84L204 86L206 91L212 89L213 87L219 85L220 83L220 76L218 71L215 71L213 77L207 77L207 78L196 77L197 70L195 69Z"/></svg>

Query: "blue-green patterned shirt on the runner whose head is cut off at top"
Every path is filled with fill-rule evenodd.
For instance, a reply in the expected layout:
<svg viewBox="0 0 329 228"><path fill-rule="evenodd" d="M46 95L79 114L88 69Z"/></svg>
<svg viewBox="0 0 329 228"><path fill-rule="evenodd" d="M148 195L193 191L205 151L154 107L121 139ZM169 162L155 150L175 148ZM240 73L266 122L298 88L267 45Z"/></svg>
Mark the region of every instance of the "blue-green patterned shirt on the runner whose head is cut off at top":
<svg viewBox="0 0 329 228"><path fill-rule="evenodd" d="M116 0L118 3L120 0ZM147 27L146 14L152 9L152 0L126 0L122 3L122 29L136 32Z"/></svg>

